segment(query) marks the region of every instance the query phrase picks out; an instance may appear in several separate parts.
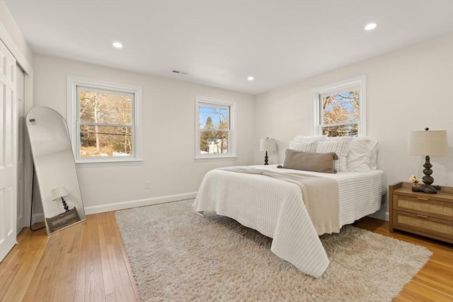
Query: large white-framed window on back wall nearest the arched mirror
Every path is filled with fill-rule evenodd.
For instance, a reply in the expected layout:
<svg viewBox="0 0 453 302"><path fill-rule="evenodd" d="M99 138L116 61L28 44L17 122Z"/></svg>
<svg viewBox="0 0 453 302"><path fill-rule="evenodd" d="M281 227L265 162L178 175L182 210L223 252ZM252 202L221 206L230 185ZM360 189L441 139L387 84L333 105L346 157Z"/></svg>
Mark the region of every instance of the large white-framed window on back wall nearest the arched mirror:
<svg viewBox="0 0 453 302"><path fill-rule="evenodd" d="M141 161L142 88L68 77L67 124L76 163Z"/></svg>

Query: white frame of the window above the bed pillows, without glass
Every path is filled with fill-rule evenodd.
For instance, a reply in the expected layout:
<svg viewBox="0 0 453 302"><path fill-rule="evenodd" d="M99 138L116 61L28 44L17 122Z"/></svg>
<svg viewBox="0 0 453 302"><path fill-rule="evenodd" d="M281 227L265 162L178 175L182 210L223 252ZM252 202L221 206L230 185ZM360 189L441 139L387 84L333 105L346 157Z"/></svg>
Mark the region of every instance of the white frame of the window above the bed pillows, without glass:
<svg viewBox="0 0 453 302"><path fill-rule="evenodd" d="M324 95L333 95L336 93L343 93L345 91L351 91L353 89L358 89L360 91L360 120L358 123L358 137L365 137L367 136L367 76L357 76L352 79L348 79L345 81L341 81L338 83L333 83L327 86L322 86L319 88L314 88L311 90L311 104L313 112L313 121L312 121L312 135L319 136L322 135L322 107L321 107L321 99ZM349 122L346 124L350 124Z"/></svg>

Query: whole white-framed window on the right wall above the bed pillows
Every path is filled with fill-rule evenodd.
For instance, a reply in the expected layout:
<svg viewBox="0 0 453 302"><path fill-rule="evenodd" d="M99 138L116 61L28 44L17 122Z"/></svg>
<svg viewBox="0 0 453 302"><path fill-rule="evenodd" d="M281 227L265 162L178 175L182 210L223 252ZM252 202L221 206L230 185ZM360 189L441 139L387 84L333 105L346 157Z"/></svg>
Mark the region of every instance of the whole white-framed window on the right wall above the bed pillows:
<svg viewBox="0 0 453 302"><path fill-rule="evenodd" d="M314 135L366 135L365 76L311 91L314 100Z"/></svg>

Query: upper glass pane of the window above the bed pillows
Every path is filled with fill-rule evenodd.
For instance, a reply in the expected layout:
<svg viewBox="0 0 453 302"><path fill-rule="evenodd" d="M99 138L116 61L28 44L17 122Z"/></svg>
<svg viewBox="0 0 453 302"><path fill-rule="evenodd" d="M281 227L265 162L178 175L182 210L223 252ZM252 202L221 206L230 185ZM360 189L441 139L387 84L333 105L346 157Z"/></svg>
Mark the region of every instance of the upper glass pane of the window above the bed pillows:
<svg viewBox="0 0 453 302"><path fill-rule="evenodd" d="M360 91L353 90L322 97L323 124L357 122L360 119Z"/></svg>

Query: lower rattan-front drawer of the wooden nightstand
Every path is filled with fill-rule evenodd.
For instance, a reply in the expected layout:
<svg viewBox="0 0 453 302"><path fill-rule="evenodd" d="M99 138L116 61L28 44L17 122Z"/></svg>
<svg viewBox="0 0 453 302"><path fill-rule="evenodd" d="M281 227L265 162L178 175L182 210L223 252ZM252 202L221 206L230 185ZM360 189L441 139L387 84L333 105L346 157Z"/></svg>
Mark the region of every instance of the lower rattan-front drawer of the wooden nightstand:
<svg viewBox="0 0 453 302"><path fill-rule="evenodd" d="M412 214L405 211L394 211L394 228L411 231L423 236L431 235L433 238L453 242L453 221L436 219L421 214Z"/></svg>

